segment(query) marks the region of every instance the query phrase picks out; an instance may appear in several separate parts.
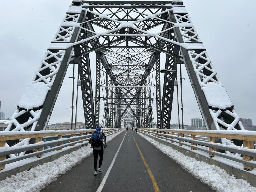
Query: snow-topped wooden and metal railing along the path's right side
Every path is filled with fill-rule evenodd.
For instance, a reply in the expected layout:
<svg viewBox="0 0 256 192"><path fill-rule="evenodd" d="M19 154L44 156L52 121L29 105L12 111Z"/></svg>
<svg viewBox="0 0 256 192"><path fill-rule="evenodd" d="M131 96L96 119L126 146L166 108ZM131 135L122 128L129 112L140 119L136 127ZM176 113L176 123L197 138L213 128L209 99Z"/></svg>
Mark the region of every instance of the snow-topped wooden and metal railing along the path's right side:
<svg viewBox="0 0 256 192"><path fill-rule="evenodd" d="M226 131L226 130L180 130L180 129L145 129L137 128L139 132L153 135L160 139L165 139L171 143L178 143L179 146L189 146L191 150L201 150L209 153L210 157L214 155L230 159L239 163L243 163L246 170L253 170L256 167L256 149L254 142L256 141L256 131ZM177 135L178 134L178 135ZM184 136L186 134L186 137ZM187 137L190 135L190 138ZM196 137L207 136L209 141L196 139ZM216 143L215 138L226 138L241 140L243 146L225 145ZM233 155L221 153L219 151L229 151Z"/></svg>

